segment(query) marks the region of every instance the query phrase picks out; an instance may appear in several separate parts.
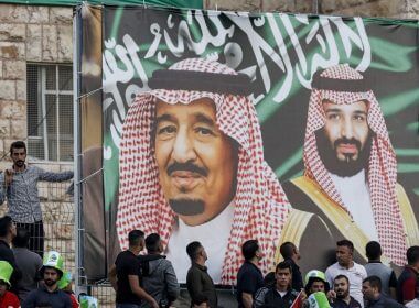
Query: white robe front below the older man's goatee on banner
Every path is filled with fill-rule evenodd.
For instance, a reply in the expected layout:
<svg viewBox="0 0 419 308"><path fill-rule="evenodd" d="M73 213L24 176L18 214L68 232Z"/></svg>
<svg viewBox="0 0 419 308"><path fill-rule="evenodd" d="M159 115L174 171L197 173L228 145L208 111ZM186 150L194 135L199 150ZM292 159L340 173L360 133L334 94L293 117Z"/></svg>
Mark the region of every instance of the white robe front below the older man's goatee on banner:
<svg viewBox="0 0 419 308"><path fill-rule="evenodd" d="M200 226L187 226L179 219L178 226L173 227L165 255L172 262L180 283L186 283L187 270L191 266L186 245L193 241L198 241L204 246L208 255L205 264L208 274L215 284L221 283L233 217L232 202L217 217Z"/></svg>

